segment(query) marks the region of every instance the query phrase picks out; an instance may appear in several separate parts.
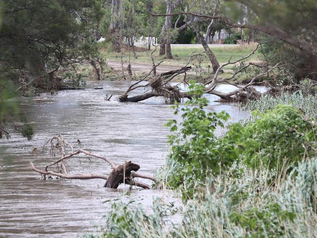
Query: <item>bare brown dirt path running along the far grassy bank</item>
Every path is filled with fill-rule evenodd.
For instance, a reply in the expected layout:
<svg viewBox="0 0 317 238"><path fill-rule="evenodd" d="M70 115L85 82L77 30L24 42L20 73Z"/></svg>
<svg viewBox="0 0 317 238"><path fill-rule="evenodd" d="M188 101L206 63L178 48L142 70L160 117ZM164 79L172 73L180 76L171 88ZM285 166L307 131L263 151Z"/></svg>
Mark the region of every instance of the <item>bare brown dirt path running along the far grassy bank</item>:
<svg viewBox="0 0 317 238"><path fill-rule="evenodd" d="M115 60L107 60L108 66L112 67L116 70L121 70L121 62ZM128 63L123 63L124 69L128 67ZM177 70L183 67L182 65L159 65L157 67L157 72L166 72L170 70ZM152 64L149 63L131 63L131 69L133 72L140 72L140 71L150 71L152 69Z"/></svg>

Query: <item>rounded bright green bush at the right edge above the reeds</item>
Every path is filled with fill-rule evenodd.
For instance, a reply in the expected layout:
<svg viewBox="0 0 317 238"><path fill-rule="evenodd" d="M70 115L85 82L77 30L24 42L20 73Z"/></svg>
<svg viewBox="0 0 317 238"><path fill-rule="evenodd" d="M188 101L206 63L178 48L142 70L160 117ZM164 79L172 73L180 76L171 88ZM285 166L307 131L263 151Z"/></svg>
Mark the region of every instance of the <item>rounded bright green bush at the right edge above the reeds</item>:
<svg viewBox="0 0 317 238"><path fill-rule="evenodd" d="M296 165L315 147L315 125L290 105L277 105L266 113L253 112L254 121L235 124L240 131L236 141L242 160L248 166L281 171ZM307 155L306 155L307 156Z"/></svg>

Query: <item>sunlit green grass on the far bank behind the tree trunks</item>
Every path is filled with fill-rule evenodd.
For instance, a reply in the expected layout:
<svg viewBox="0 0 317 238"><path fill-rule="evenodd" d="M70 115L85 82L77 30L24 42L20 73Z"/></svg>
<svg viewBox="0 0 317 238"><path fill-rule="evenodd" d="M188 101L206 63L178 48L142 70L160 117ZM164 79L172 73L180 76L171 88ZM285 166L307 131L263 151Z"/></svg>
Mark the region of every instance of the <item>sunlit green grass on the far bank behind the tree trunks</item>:
<svg viewBox="0 0 317 238"><path fill-rule="evenodd" d="M153 47L152 47L153 48ZM248 55L252 50L255 48L255 45L237 45L237 46L230 46L230 47L213 47L210 46L211 50L216 55L219 63L227 62L229 59L236 60L243 56ZM110 47L107 46L105 43L100 45L100 51L102 52L103 56L109 60L120 60L120 53L115 53L109 50ZM163 64L169 65L183 65L187 62L188 57L193 53L200 53L203 52L203 47L201 45L194 45L194 46L172 46L172 54L174 59L165 59L165 57L158 56L158 51L154 53L154 60L155 62L159 62L164 60ZM135 59L133 53L130 52L130 61L131 62L138 62L138 63L152 63L151 61L151 52L152 51L144 51L144 52L137 52L138 59ZM123 57L125 60L129 59L129 52L124 52ZM210 61L206 57L196 57L194 59L197 62L201 61L201 65L203 67L207 67L210 65ZM258 55L255 54L254 56L250 57L248 60L258 60Z"/></svg>

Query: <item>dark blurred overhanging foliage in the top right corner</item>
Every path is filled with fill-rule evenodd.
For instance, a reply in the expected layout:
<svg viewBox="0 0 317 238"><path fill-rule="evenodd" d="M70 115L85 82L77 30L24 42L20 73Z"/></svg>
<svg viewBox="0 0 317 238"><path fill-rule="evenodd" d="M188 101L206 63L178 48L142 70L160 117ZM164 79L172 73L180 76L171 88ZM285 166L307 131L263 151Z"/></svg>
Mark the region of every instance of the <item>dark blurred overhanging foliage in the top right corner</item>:
<svg viewBox="0 0 317 238"><path fill-rule="evenodd" d="M260 49L269 64L291 63L297 79L316 79L317 2L315 0L226 1L224 14L240 23L264 27L260 42L274 40ZM266 28L266 29L265 29ZM281 40L279 40L281 39ZM303 45L307 48L303 50Z"/></svg>

